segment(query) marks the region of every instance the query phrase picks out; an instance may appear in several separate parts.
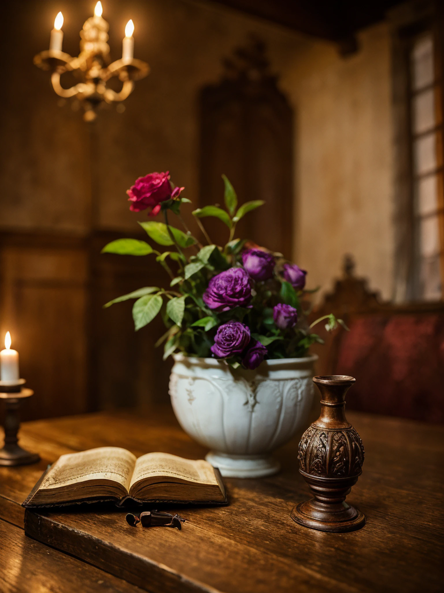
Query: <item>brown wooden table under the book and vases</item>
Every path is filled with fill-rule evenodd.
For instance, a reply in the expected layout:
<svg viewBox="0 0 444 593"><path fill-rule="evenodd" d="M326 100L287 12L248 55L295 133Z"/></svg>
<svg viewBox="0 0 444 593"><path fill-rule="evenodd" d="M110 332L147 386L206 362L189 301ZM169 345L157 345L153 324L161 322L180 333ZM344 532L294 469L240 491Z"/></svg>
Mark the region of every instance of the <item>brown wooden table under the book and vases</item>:
<svg viewBox="0 0 444 593"><path fill-rule="evenodd" d="M205 450L169 408L143 417L98 413L25 423L21 444L42 461L0 468L0 591L442 591L444 429L348 417L365 447L363 474L349 497L367 517L361 531L327 534L291 521L292 506L308 495L297 472L295 438L276 452L281 473L226 479L230 506L182 509L188 519L182 531L131 528L110 512L51 514L44 520L56 527L52 543L60 547L57 538L69 530L74 544L65 550L71 555L24 535L20 503L48 463L102 445L190 458L202 458ZM138 569L128 569L116 549L136 559Z"/></svg>

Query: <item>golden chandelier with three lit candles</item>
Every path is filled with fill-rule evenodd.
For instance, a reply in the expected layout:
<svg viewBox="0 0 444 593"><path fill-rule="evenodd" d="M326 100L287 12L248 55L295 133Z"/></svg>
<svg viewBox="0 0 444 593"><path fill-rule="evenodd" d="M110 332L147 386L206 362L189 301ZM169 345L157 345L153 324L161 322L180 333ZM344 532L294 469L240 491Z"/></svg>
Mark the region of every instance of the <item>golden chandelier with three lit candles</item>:
<svg viewBox="0 0 444 593"><path fill-rule="evenodd" d="M149 73L149 65L133 58L134 24L128 21L122 45L122 57L111 62L110 46L108 45L109 25L102 18L102 3L97 2L94 17L88 18L80 32L80 53L72 58L62 51L63 15L59 12L51 31L49 50L34 56L34 64L51 72L51 82L57 95L64 98L76 97L83 105L83 119L92 122L96 118L98 107L102 103L124 101L133 91L134 81L144 78ZM60 76L72 72L80 82L70 88L62 87ZM107 82L117 77L121 90L116 92L107 87Z"/></svg>

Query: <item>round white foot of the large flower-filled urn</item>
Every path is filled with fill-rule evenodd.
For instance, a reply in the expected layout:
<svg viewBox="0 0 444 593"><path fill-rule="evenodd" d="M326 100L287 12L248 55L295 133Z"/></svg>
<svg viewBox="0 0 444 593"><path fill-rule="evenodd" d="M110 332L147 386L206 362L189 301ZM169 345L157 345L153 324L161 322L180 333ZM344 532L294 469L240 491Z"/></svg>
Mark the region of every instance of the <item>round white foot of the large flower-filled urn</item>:
<svg viewBox="0 0 444 593"><path fill-rule="evenodd" d="M227 478L272 476L281 466L271 455L229 455L210 451L205 459Z"/></svg>

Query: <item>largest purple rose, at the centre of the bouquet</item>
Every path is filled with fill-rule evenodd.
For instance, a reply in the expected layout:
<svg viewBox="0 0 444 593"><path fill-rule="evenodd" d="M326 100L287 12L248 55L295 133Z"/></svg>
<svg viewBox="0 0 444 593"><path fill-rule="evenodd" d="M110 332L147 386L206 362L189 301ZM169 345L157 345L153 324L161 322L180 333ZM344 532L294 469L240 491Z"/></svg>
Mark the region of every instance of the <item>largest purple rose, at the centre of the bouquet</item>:
<svg viewBox="0 0 444 593"><path fill-rule="evenodd" d="M251 300L251 284L250 276L242 267L231 267L211 278L202 298L205 305L215 311L247 307Z"/></svg>

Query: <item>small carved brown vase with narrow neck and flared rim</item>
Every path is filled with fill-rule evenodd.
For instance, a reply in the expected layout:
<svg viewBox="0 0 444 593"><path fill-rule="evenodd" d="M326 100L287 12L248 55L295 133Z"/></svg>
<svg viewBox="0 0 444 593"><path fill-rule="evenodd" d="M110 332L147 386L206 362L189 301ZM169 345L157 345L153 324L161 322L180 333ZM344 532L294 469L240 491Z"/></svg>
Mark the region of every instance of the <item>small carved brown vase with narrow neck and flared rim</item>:
<svg viewBox="0 0 444 593"><path fill-rule="evenodd" d="M345 394L355 379L344 375L314 377L321 392L321 415L299 444L299 471L314 498L291 511L300 525L343 533L365 525L365 516L345 502L362 473L361 437L345 417Z"/></svg>

